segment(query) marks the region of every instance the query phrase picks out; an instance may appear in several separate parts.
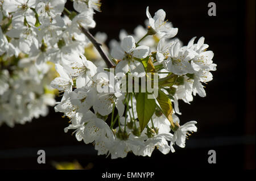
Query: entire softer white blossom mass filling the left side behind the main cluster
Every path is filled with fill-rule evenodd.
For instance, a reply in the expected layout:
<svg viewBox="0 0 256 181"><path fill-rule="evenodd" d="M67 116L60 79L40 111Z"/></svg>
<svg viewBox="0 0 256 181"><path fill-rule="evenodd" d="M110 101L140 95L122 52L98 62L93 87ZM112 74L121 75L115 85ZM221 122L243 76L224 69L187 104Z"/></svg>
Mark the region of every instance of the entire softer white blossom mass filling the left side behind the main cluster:
<svg viewBox="0 0 256 181"><path fill-rule="evenodd" d="M80 25L95 27L93 11L98 1L74 1L82 12L61 16L66 0L0 1L0 124L10 127L47 115L54 106L54 91L49 83L56 77L54 65L65 54L88 52L96 65L105 66L99 54L80 30ZM70 15L71 16L71 15ZM104 33L97 33L101 43ZM102 63L103 62L103 63Z"/></svg>

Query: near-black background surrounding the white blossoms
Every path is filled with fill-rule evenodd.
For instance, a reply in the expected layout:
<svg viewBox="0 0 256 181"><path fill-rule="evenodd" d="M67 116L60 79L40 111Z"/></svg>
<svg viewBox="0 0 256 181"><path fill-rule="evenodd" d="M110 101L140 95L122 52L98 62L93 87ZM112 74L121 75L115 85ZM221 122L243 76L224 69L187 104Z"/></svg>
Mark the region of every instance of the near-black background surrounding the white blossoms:
<svg viewBox="0 0 256 181"><path fill-rule="evenodd" d="M208 16L208 3L215 2L217 16ZM255 1L102 1L96 12L96 28L117 39L123 28L133 33L144 26L146 7L151 15L164 9L166 19L179 28L184 44L193 37L205 37L214 52L213 81L206 85L207 97L194 97L191 105L180 101L181 124L197 120L198 131L185 149L152 156L128 154L124 159L97 155L92 145L78 142L61 113L50 108L47 117L26 125L0 127L0 169L54 169L52 161L77 160L93 169L255 169ZM46 164L38 164L37 151L46 151ZM217 163L208 163L208 151L215 150Z"/></svg>

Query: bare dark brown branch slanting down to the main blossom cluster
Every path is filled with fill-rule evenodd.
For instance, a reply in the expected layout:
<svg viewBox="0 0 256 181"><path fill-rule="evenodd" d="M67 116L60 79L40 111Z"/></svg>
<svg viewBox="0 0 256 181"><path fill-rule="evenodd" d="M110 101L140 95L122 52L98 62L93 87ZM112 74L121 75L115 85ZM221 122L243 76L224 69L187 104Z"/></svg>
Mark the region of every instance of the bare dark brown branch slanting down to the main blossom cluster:
<svg viewBox="0 0 256 181"><path fill-rule="evenodd" d="M92 34L86 30L85 28L80 26L81 31L85 34L86 37L88 37L88 39L92 42L92 44L94 45L94 47L98 50L98 53L100 53L101 57L103 58L103 60L106 62L106 64L108 65L109 68L112 68L114 66L113 62L109 59L108 56L106 56L106 54L104 53L104 51L101 48L101 44L97 42L96 39L94 39L94 37L92 36Z"/></svg>

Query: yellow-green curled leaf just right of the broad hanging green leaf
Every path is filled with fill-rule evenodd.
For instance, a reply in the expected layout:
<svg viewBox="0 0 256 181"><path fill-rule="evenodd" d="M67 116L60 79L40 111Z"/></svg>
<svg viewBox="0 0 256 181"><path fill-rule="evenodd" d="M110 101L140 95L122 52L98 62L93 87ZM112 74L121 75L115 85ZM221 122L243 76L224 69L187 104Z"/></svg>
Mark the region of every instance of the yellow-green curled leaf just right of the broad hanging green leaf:
<svg viewBox="0 0 256 181"><path fill-rule="evenodd" d="M172 102L171 99L168 98L166 94L164 94L163 91L159 90L158 91L158 103L160 107L162 108L162 111L164 115L166 115L167 119L170 121L171 125L174 124L174 121L172 120L172 112L174 111L172 109Z"/></svg>

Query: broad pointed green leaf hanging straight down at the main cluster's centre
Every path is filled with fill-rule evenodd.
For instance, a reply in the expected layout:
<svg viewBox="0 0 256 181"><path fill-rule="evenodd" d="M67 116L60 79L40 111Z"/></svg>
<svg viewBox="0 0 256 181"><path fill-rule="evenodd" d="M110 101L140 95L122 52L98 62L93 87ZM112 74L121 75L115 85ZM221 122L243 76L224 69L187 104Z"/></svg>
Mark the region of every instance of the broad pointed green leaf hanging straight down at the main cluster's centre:
<svg viewBox="0 0 256 181"><path fill-rule="evenodd" d="M141 132L146 127L148 121L150 121L156 106L155 99L148 99L147 95L147 92L139 92L136 96L136 110Z"/></svg>

